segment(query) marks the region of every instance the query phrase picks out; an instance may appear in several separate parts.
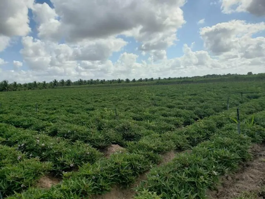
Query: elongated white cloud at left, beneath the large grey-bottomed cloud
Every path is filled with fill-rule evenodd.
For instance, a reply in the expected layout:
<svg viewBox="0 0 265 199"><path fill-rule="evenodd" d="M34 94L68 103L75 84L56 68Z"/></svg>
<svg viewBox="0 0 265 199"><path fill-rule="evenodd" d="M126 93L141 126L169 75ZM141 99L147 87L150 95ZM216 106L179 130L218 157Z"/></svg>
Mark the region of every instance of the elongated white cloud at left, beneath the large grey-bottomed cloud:
<svg viewBox="0 0 265 199"><path fill-rule="evenodd" d="M27 36L23 37L21 42L23 49L20 53L30 69L44 70L56 67L58 72L78 66L78 61L107 61L112 52L119 52L127 44L115 37L76 44L58 44Z"/></svg>

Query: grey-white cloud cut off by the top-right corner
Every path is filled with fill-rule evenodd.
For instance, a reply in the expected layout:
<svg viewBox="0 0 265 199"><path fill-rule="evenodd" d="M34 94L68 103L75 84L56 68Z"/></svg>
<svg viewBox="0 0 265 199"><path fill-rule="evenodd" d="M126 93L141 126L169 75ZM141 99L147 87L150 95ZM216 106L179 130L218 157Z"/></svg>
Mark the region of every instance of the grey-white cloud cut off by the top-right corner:
<svg viewBox="0 0 265 199"><path fill-rule="evenodd" d="M222 0L222 12L230 14L232 12L250 12L256 16L265 15L264 0Z"/></svg>

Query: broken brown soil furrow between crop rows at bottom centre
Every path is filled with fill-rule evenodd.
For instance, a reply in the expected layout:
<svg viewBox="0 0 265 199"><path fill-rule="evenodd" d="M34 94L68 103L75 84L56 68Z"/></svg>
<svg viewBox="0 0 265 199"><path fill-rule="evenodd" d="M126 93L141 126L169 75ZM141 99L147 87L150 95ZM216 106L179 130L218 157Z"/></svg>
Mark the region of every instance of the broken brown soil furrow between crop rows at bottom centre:
<svg viewBox="0 0 265 199"><path fill-rule="evenodd" d="M158 166L161 166L163 164L170 162L173 158L175 158L175 155L179 152L180 151L170 151L170 152L162 155L163 159ZM110 192L108 192L104 195L94 195L91 198L92 199L132 199L134 197L134 195L136 194L133 189L135 187L137 187L141 181L147 179L148 173L149 172L141 174L128 189L122 189L118 186L114 186Z"/></svg>

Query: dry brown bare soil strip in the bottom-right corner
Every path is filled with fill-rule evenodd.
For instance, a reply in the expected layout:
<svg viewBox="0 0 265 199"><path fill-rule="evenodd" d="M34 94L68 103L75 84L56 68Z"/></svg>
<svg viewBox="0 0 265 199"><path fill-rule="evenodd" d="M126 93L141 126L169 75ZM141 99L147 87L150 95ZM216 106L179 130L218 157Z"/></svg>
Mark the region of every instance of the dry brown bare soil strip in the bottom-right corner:
<svg viewBox="0 0 265 199"><path fill-rule="evenodd" d="M265 144L254 144L250 152L265 154ZM259 190L264 186L265 155L253 154L254 159L246 163L236 173L222 176L217 191L209 191L209 199L229 199L239 197L243 192Z"/></svg>

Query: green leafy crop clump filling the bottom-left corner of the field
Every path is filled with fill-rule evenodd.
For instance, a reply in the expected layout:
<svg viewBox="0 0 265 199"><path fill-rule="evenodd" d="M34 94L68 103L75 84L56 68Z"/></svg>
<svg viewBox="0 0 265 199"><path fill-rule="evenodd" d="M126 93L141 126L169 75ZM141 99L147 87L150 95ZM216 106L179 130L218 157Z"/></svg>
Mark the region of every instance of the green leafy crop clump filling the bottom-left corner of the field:
<svg viewBox="0 0 265 199"><path fill-rule="evenodd" d="M51 162L27 159L26 154L14 147L0 144L0 191L3 197L25 190L51 169Z"/></svg>

